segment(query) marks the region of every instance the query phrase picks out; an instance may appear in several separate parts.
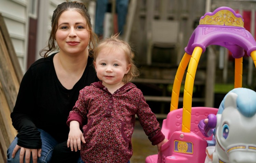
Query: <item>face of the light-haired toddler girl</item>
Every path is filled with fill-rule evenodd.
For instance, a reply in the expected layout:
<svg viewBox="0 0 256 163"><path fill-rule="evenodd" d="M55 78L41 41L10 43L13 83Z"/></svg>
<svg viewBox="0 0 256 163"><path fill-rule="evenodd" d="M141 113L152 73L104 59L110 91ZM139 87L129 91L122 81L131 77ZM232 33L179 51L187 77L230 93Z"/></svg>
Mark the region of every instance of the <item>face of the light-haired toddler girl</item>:
<svg viewBox="0 0 256 163"><path fill-rule="evenodd" d="M126 60L126 55L122 49L103 48L95 62L95 70L97 76L102 80L103 85L115 85L122 82L125 74L127 74L131 68Z"/></svg>

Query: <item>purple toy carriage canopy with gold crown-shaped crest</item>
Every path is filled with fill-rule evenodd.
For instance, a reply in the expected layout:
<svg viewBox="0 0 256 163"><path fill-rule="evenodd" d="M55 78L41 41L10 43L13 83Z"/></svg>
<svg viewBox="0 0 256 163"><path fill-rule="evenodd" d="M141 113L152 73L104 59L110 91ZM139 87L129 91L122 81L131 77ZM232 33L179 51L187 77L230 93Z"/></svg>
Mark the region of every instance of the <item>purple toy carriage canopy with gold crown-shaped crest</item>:
<svg viewBox="0 0 256 163"><path fill-rule="evenodd" d="M219 7L213 13L205 13L189 38L185 52L192 55L194 48L200 47L203 53L209 45L219 45L227 48L234 58L243 57L244 50L251 56L256 50L256 42L243 24L242 16L230 7Z"/></svg>

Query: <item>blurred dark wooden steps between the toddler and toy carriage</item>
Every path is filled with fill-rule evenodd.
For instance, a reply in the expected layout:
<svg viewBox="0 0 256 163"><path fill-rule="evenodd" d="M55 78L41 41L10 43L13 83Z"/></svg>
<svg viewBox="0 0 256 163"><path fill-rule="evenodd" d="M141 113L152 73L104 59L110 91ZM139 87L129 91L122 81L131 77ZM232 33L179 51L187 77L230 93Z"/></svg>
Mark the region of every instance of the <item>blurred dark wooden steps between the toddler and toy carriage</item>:
<svg viewBox="0 0 256 163"><path fill-rule="evenodd" d="M142 66L141 76L133 79L141 91L146 102L156 114L157 119L165 119L170 111L171 93L177 67ZM194 82L193 103L194 106L204 106L205 98L205 71L198 70L197 79ZM185 76L185 75L184 75ZM179 97L179 107L183 106L183 89L185 77Z"/></svg>

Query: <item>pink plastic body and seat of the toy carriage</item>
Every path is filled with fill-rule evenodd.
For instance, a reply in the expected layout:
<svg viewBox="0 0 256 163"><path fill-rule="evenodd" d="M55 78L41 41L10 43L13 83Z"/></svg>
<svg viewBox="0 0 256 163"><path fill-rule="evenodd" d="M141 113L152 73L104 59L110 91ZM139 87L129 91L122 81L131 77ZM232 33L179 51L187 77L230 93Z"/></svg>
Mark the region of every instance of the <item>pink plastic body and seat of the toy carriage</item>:
<svg viewBox="0 0 256 163"><path fill-rule="evenodd" d="M148 156L145 163L198 163L205 159L205 148L207 142L212 140L202 135L198 129L200 120L207 118L209 114L217 114L218 109L209 107L192 107L191 108L191 127L189 133L181 132L182 128L182 108L168 113L167 118L163 120L161 131L169 140L162 145L161 152L158 155ZM184 134L184 138L180 138ZM174 152L174 141L181 140L191 142L194 145L193 155L187 153Z"/></svg>

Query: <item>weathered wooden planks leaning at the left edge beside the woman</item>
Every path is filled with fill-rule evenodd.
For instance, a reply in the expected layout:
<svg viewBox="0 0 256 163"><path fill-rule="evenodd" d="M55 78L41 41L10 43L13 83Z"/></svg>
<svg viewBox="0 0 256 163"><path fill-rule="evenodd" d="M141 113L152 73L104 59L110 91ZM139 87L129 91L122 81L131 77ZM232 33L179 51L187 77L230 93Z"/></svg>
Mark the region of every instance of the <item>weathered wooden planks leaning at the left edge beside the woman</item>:
<svg viewBox="0 0 256 163"><path fill-rule="evenodd" d="M17 131L12 126L10 114L16 102L21 68L9 33L0 13L0 162L6 163L6 152Z"/></svg>

